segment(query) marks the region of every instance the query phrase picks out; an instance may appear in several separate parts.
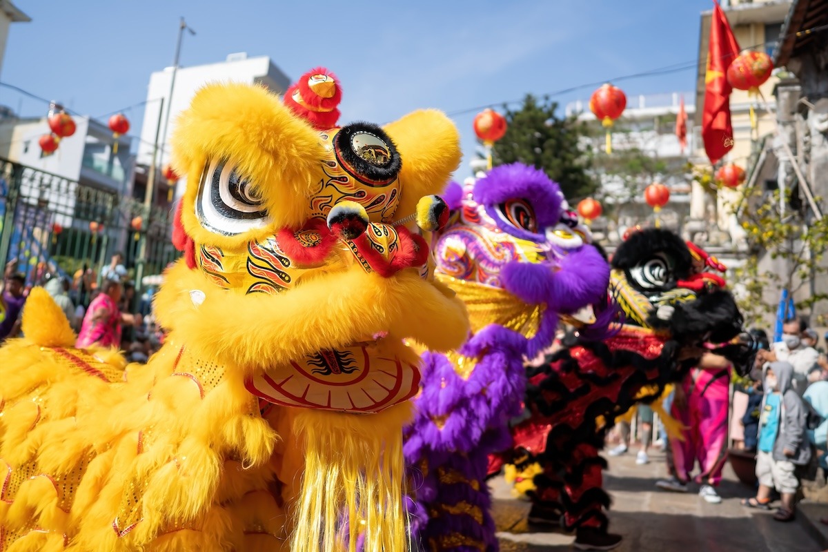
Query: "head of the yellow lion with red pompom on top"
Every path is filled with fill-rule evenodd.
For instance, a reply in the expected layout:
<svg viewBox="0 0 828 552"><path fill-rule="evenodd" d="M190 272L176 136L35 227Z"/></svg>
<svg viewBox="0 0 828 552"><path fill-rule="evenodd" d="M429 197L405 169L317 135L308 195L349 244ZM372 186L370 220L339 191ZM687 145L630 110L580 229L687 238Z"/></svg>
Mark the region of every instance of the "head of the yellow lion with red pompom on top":
<svg viewBox="0 0 828 552"><path fill-rule="evenodd" d="M173 137L185 259L156 307L171 339L242 372L266 401L375 412L416 392L403 339L448 350L468 330L409 223L444 214L422 198L460 150L436 111L329 127L338 112L325 100L339 93L318 69L285 103L244 84L196 94Z"/></svg>

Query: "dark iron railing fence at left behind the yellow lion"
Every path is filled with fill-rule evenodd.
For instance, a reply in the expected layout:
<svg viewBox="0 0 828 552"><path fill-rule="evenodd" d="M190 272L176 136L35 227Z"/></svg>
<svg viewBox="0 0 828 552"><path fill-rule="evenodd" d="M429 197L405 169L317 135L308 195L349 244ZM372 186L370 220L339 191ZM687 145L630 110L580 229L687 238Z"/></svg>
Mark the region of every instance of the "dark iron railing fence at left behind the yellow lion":
<svg viewBox="0 0 828 552"><path fill-rule="evenodd" d="M142 246L145 255L139 258ZM123 252L133 279L160 274L178 256L169 209L147 210L113 190L0 159L3 266L17 260L30 286L55 272L77 284L84 276L99 281L115 252Z"/></svg>

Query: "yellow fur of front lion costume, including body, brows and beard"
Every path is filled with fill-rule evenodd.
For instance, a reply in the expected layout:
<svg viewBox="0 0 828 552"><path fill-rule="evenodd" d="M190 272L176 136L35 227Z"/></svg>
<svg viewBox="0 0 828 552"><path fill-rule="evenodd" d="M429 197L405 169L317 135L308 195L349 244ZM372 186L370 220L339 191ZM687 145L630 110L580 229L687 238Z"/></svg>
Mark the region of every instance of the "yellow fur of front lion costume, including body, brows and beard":
<svg viewBox="0 0 828 552"><path fill-rule="evenodd" d="M431 146L419 143L422 132ZM388 134L404 158L396 209L412 210L455 168L457 133L425 111ZM313 216L324 140L262 89L205 89L174 142L196 247L241 255ZM240 236L201 225L195 185L215 156L256 180L267 225ZM368 214L390 223L388 212ZM344 244L313 269L301 285L251 295L181 260L156 295L168 334L147 365L73 348L60 309L32 290L26 338L0 349L0 550L335 552L354 550L358 532L368 552L405 550L409 405L359 415L265 408L246 380L374 334L383 335L379 351L416 364L403 339L455 348L468 332L465 309L431 274L379 276Z"/></svg>

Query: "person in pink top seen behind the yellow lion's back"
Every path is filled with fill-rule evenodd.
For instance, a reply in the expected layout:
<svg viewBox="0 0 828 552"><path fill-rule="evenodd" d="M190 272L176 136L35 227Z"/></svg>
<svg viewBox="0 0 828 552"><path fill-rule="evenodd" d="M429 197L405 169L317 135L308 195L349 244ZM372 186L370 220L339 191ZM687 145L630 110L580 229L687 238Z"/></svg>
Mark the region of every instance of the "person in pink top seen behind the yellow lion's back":
<svg viewBox="0 0 828 552"><path fill-rule="evenodd" d="M121 324L140 325L141 314L126 314L118 310L123 287L120 281L104 280L101 293L89 303L75 346L121 347Z"/></svg>

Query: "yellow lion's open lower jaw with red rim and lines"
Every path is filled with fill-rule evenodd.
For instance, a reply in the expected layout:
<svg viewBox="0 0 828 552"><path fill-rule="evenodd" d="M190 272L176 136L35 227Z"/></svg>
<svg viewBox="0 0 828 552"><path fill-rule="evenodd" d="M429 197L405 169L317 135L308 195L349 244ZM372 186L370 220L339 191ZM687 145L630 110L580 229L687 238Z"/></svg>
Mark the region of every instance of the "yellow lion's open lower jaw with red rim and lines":
<svg viewBox="0 0 828 552"><path fill-rule="evenodd" d="M371 414L416 394L416 357L405 358L402 343L375 334L340 348L320 349L271 367L245 386L253 395L280 406Z"/></svg>

